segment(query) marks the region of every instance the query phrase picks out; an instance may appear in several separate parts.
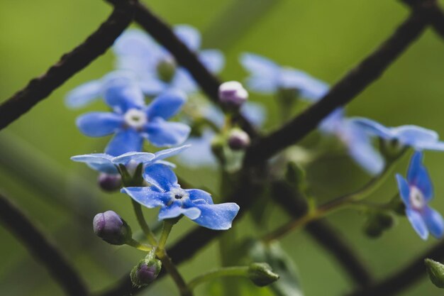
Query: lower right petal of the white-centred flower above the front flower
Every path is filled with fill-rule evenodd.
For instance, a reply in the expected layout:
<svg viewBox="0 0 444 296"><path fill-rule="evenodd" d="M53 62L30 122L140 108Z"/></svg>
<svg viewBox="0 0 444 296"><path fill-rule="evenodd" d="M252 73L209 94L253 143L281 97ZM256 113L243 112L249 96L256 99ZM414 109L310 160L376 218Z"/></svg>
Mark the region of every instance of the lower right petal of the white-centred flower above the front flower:
<svg viewBox="0 0 444 296"><path fill-rule="evenodd" d="M179 122L167 122L156 118L146 124L145 132L152 145L157 147L175 146L187 140L191 128Z"/></svg>

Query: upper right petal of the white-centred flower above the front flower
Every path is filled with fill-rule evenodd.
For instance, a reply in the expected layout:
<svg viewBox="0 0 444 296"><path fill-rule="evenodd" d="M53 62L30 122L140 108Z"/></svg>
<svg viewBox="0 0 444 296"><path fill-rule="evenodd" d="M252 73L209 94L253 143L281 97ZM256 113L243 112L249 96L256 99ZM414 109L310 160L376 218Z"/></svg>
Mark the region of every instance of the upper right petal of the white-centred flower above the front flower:
<svg viewBox="0 0 444 296"><path fill-rule="evenodd" d="M161 117L162 119L169 119L179 112L185 102L187 102L187 95L183 92L164 92L148 106L148 118Z"/></svg>

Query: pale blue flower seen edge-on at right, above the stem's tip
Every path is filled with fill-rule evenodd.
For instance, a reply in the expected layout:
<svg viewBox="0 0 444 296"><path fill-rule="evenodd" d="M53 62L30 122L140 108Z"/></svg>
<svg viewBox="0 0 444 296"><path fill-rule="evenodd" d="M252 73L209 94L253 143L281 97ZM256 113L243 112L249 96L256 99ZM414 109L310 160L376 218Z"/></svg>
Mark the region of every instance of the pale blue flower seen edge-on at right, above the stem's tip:
<svg viewBox="0 0 444 296"><path fill-rule="evenodd" d="M389 128L376 121L359 117L354 118L353 121L374 136L397 141L415 150L444 150L444 142L439 141L438 133L421 126L406 125Z"/></svg>

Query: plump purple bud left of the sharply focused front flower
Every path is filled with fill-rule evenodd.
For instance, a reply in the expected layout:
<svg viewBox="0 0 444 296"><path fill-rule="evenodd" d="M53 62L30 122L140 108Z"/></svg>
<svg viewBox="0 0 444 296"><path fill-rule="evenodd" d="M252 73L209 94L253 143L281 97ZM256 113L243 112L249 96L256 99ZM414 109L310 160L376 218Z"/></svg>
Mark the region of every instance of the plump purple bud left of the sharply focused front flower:
<svg viewBox="0 0 444 296"><path fill-rule="evenodd" d="M112 245L123 245L131 239L132 232L126 221L116 212L106 211L94 216L94 234Z"/></svg>

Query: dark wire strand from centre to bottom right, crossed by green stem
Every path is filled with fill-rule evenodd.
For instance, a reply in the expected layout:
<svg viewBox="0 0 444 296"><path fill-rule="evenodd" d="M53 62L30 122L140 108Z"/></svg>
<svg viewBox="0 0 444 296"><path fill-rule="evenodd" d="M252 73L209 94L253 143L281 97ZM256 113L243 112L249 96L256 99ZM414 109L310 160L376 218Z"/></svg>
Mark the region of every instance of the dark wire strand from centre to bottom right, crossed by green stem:
<svg viewBox="0 0 444 296"><path fill-rule="evenodd" d="M290 216L298 218L303 216L308 206L304 197L297 196L292 188L285 182L274 182L272 186L274 200L282 206ZM330 224L323 220L313 221L307 224L305 230L326 251L331 253L348 276L360 287L367 287L372 283L372 275L367 266L357 256L355 250L348 245Z"/></svg>

